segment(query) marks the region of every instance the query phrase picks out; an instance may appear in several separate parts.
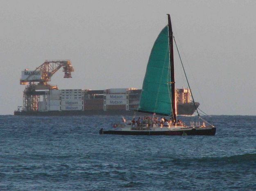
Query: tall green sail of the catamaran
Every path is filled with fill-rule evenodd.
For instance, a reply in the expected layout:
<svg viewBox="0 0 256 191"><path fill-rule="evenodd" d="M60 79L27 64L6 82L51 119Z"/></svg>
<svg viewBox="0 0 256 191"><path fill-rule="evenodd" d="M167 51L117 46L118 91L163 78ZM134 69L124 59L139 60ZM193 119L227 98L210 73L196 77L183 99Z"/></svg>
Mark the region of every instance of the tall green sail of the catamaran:
<svg viewBox="0 0 256 191"><path fill-rule="evenodd" d="M172 115L168 26L164 27L150 53L138 111Z"/></svg>

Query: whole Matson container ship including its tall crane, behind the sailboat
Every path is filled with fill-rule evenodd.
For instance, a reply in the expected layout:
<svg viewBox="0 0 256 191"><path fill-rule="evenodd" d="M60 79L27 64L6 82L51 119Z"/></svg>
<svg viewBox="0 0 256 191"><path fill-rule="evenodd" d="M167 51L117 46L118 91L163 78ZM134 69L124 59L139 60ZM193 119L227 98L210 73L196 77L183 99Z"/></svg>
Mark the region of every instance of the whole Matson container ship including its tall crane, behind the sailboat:
<svg viewBox="0 0 256 191"><path fill-rule="evenodd" d="M70 60L46 60L34 71L21 72L20 84L27 86L23 106L14 115L134 115L138 109L141 89L58 89L48 84L61 67L64 78L71 78ZM199 106L199 102L193 104L188 88L176 89L176 98L178 115L193 115Z"/></svg>

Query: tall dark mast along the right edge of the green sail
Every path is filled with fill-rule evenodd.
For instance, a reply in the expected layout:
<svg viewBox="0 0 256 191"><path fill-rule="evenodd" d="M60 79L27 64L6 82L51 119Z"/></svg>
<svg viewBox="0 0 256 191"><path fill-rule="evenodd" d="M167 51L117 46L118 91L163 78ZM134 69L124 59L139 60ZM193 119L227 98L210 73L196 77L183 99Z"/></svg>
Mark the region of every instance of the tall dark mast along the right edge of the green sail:
<svg viewBox="0 0 256 191"><path fill-rule="evenodd" d="M171 74L171 94L172 94L172 117L176 122L177 108L175 95L175 79L174 79L174 58L173 58L173 33L170 14L168 15L168 31L169 31L169 50L170 50L170 74Z"/></svg>

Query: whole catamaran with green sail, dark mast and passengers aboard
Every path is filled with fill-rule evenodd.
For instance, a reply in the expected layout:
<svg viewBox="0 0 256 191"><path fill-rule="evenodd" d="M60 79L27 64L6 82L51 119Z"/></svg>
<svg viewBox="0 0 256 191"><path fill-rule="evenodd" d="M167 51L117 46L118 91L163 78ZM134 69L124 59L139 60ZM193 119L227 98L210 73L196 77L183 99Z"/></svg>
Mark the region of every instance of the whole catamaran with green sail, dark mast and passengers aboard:
<svg viewBox="0 0 256 191"><path fill-rule="evenodd" d="M167 125L159 125L154 120L148 123L141 122L140 124L125 121L124 124L116 124L113 130L103 130L101 128L100 134L215 135L216 127L206 121L202 123L190 122L190 126L185 126L177 121L173 41L175 42L175 39L172 33L170 15L168 14L168 24L159 33L150 53L138 107L138 112L152 113L153 116L170 116L171 121Z"/></svg>

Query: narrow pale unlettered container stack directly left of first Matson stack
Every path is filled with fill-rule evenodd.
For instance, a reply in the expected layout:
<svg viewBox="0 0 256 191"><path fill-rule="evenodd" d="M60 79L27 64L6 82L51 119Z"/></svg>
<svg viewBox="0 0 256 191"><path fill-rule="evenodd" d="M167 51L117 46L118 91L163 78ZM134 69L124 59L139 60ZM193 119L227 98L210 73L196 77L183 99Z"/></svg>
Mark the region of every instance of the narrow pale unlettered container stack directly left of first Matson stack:
<svg viewBox="0 0 256 191"><path fill-rule="evenodd" d="M61 111L60 91L50 90L48 96L48 111Z"/></svg>

